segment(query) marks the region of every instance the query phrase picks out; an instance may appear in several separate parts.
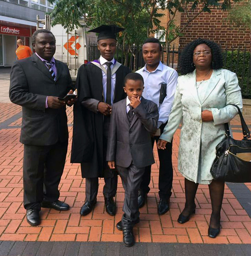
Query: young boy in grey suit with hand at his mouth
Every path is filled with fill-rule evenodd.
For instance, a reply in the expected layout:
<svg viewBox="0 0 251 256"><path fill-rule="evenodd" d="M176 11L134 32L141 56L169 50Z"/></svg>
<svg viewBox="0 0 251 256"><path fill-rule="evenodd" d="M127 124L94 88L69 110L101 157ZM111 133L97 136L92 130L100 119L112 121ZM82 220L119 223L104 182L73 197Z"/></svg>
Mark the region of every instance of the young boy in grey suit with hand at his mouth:
<svg viewBox="0 0 251 256"><path fill-rule="evenodd" d="M134 245L133 227L139 222L138 190L146 166L154 163L151 134L157 130L158 106L142 97L144 79L138 73L125 77L127 97L113 104L109 127L107 158L111 169L117 167L125 190L123 217L117 228L123 242Z"/></svg>

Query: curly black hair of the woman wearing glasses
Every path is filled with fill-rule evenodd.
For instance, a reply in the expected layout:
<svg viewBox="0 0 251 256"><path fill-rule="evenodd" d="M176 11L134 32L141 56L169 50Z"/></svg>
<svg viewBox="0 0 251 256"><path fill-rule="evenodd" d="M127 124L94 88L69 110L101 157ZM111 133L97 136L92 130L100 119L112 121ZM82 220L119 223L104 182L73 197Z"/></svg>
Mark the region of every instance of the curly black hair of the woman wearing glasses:
<svg viewBox="0 0 251 256"><path fill-rule="evenodd" d="M223 57L220 46L214 41L198 38L187 44L182 51L181 61L179 65L179 72L182 75L192 73L195 70L195 66L192 65L194 49L196 46L202 43L207 44L207 46L209 46L212 51L212 69L221 69L223 67Z"/></svg>

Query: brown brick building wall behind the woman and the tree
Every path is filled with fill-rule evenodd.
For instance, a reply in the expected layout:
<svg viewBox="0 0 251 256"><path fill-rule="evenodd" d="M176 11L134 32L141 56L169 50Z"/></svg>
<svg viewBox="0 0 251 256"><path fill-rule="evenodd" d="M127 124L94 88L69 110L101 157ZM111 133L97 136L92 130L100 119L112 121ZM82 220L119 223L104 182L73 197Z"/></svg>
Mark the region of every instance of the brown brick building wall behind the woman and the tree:
<svg viewBox="0 0 251 256"><path fill-rule="evenodd" d="M200 8L190 11L191 16L195 16ZM165 16L159 18L163 27L167 26L168 12ZM223 49L234 47L235 49L240 46L240 49L246 47L247 50L251 49L251 32L248 28L238 27L227 21L227 11L221 9L212 9L211 13L200 13L188 26L182 31L183 36L176 39L171 43L171 47L180 46L181 49L196 38L206 38L214 40L216 43L221 44ZM183 28L187 23L186 13L176 13L176 24ZM159 33L160 34L160 33ZM155 35L158 38L158 35Z"/></svg>

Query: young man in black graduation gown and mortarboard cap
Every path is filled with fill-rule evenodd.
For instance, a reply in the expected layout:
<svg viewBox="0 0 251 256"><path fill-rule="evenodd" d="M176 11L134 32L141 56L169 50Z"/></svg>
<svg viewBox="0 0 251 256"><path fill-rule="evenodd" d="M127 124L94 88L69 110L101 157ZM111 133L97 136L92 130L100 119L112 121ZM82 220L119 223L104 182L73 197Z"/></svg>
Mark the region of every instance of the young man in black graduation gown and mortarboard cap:
<svg viewBox="0 0 251 256"><path fill-rule="evenodd" d="M78 102L73 109L71 162L81 163L85 182L85 203L80 214L90 213L97 202L99 178L104 178L103 195L108 214L115 215L113 197L117 191L117 172L105 161L112 104L126 98L124 78L130 69L114 59L116 33L124 28L102 25L89 32L97 37L100 58L82 65L77 73Z"/></svg>

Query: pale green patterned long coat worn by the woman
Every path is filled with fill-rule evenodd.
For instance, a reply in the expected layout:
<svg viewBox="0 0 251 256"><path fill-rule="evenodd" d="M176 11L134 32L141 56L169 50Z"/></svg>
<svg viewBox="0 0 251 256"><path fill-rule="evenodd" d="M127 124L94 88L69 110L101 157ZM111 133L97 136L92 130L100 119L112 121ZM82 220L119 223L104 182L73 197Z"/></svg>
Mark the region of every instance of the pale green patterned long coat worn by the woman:
<svg viewBox="0 0 251 256"><path fill-rule="evenodd" d="M191 181L197 181L200 146L202 148L202 180L213 179L210 168L216 156L216 145L224 139L224 123L238 113L234 106L242 109L242 94L235 73L227 69L214 70L210 84L200 102L196 88L196 74L189 73L178 78L174 103L160 139L170 142L183 118L180 133L178 170ZM202 122L201 112L212 111L214 121Z"/></svg>

